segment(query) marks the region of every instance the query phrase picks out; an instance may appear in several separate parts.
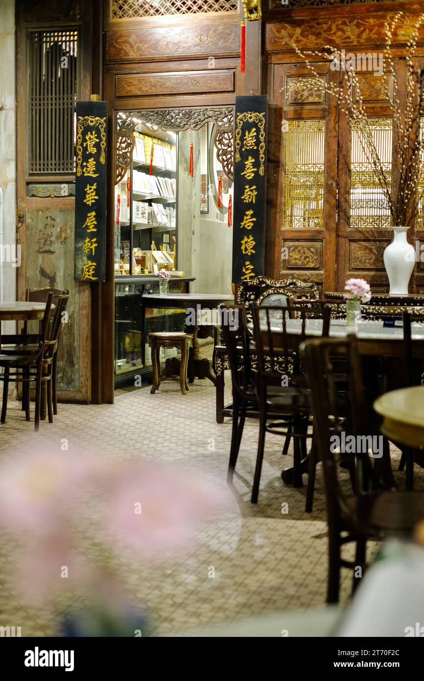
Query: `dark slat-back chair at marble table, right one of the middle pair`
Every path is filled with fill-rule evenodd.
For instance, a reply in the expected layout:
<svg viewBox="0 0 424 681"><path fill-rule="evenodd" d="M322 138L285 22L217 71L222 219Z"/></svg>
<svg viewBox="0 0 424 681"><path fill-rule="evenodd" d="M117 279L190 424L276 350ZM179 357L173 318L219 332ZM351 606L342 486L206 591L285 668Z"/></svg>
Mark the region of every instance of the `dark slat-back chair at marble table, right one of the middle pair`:
<svg viewBox="0 0 424 681"><path fill-rule="evenodd" d="M256 390L259 398L259 442L255 478L252 488L252 503L257 503L261 480L265 435L267 432L282 434L293 438L293 486L303 486L302 473L306 471L306 439L310 415L310 391L301 384L296 384L295 377L300 376L299 355L291 348L287 323L291 317L301 322L299 342L306 335L306 321L309 318L304 308L297 306L259 306L252 305L253 331L257 351ZM314 319L322 320L322 334L328 336L330 311L324 307L314 312ZM284 420L286 430L267 424L277 414ZM288 447L286 439L285 447ZM285 453L285 452L283 452ZM284 472L283 474L284 475ZM283 477L284 479L284 477ZM307 499L313 496L310 484L314 476L308 480Z"/></svg>

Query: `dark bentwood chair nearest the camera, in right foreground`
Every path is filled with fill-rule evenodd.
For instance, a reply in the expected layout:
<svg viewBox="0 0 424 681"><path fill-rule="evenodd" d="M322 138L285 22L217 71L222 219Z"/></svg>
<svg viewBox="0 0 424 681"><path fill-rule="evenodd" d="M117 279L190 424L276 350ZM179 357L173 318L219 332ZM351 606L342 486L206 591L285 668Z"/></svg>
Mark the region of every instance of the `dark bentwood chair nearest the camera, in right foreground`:
<svg viewBox="0 0 424 681"><path fill-rule="evenodd" d="M371 486L371 464L366 441L369 415L363 399L361 363L355 336L347 340L307 340L301 351L304 353L306 369L310 380L312 414L314 417L314 438L323 460L325 496L327 501L327 523L329 533L329 573L327 603L337 603L340 590L342 567L354 571L365 569L366 543L368 539L382 539L394 533L408 534L417 522L424 518L424 495L418 492L374 492ZM357 445L350 458L350 481L353 494L346 496L339 480L340 466L336 458L335 445L340 442L346 428L344 415L339 413L338 388L334 380L336 370L334 358L342 357L348 367L348 393L351 419L349 434L353 434ZM336 440L334 439L336 437ZM365 438L365 440L363 440ZM342 547L356 543L355 560L342 558ZM353 582L353 589L358 580Z"/></svg>

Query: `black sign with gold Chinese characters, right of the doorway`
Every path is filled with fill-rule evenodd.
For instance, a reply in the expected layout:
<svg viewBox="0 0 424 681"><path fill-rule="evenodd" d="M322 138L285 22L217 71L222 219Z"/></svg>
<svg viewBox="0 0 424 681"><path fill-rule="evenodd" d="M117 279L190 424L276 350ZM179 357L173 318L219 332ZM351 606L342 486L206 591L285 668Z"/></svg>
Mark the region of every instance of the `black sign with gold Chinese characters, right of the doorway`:
<svg viewBox="0 0 424 681"><path fill-rule="evenodd" d="M263 274L267 97L235 97L233 283Z"/></svg>

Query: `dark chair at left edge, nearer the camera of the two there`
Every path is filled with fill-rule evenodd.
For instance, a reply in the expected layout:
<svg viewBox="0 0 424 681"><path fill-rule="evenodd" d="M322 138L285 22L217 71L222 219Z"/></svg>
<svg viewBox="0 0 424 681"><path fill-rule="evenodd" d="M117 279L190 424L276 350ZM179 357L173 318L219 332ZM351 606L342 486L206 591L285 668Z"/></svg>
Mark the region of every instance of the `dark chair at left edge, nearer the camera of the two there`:
<svg viewBox="0 0 424 681"><path fill-rule="evenodd" d="M41 324L41 331L35 343L35 349L19 352L16 347L16 353L0 354L0 366L3 367L3 375L0 375L0 380L3 381L3 403L1 408L1 423L4 424L7 412L7 396L9 391L10 381L22 381L25 385L22 387L22 394L25 392L27 398L25 399L25 412L27 421L30 420L29 415L29 382L35 379L35 430L39 430L39 417L41 409L42 384L50 385L48 388L48 417L49 422L52 423L52 402L51 402L51 379L52 374L48 371L48 366L52 364L52 358L56 349L56 340L50 336L50 314L52 309L53 294L49 291L46 300L46 309ZM11 373L12 370L12 373ZM20 373L22 372L22 373ZM23 404L23 399L22 399Z"/></svg>

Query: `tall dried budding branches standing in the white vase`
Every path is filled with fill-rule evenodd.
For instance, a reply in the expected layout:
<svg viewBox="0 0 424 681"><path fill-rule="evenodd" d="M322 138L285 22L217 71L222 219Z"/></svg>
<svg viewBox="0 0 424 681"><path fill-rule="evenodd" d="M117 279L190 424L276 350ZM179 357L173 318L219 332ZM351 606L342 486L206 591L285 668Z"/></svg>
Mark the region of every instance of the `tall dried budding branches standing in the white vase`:
<svg viewBox="0 0 424 681"><path fill-rule="evenodd" d="M312 77L305 79L305 85L310 86L314 93L319 91L334 97L355 127L365 158L372 170L374 170L376 180L387 201L393 224L410 225L424 195L423 190L417 197L424 166L424 135L421 129L421 121L424 116L424 93L421 87L419 70L414 64L414 54L417 48L420 29L424 22L424 14L417 18L407 43L404 106L402 106L399 100L397 79L395 77L395 63L393 61L393 33L401 20L403 21L403 26L401 25L400 30L405 31L406 20L404 19L403 12L397 12L393 20L385 25L386 44L383 51L382 69L387 99L393 112L394 149L399 159L397 187L394 187L391 175L385 169L385 163L380 158L380 153L373 136L372 125L370 125L363 104L361 87L355 69L347 65L344 67L344 86L339 87L335 83L325 82L322 74L316 72L314 64L310 61L310 57L319 57L324 61L338 60L340 64L344 60L342 51L331 45L325 45L323 51L306 50L304 52L299 50L295 43L292 43L292 47L312 72ZM392 91L389 86L391 76L393 76Z"/></svg>

